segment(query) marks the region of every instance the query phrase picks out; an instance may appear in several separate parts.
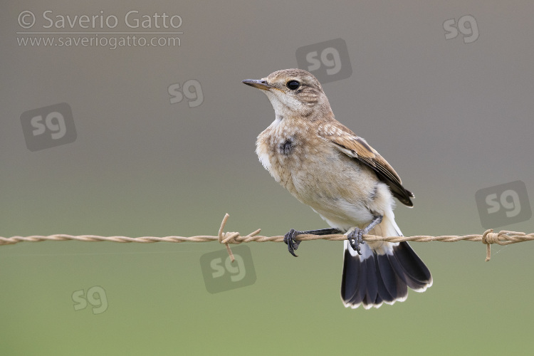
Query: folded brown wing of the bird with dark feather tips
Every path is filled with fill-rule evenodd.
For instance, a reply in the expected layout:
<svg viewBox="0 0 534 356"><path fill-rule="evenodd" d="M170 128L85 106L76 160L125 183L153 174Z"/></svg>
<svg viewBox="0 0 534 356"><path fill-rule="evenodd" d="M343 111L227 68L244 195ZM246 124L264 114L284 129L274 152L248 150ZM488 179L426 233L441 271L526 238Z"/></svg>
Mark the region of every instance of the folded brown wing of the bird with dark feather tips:
<svg viewBox="0 0 534 356"><path fill-rule="evenodd" d="M362 137L358 137L354 132L337 122L320 125L318 134L332 142L345 155L372 168L379 179L389 186L393 196L399 199L402 204L414 206L410 199L414 197L414 194L402 187L399 174Z"/></svg>

